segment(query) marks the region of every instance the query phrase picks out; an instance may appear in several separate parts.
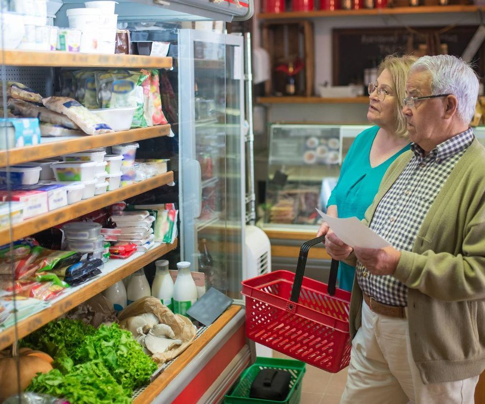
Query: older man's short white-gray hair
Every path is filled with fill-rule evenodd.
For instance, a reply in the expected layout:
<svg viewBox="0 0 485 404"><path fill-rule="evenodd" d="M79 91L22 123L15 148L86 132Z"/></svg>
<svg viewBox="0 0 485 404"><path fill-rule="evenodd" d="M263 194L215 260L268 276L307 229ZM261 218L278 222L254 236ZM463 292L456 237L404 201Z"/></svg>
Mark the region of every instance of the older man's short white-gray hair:
<svg viewBox="0 0 485 404"><path fill-rule="evenodd" d="M468 124L475 115L478 78L468 63L451 55L423 56L412 66L410 74L428 70L431 73L431 94L453 94L458 99L458 116Z"/></svg>

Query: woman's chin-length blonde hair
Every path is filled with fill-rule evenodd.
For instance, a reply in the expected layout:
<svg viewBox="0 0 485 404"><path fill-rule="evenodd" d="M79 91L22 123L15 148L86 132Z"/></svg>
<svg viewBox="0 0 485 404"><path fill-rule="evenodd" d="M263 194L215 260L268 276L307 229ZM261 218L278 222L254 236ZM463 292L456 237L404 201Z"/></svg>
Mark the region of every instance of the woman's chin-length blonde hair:
<svg viewBox="0 0 485 404"><path fill-rule="evenodd" d="M381 75L384 69L391 74L392 91L394 93L394 105L396 108L396 135L401 138L407 138L406 118L403 114L403 98L406 97L406 80L409 69L418 58L411 55L397 56L389 55L381 62L377 69L377 77Z"/></svg>

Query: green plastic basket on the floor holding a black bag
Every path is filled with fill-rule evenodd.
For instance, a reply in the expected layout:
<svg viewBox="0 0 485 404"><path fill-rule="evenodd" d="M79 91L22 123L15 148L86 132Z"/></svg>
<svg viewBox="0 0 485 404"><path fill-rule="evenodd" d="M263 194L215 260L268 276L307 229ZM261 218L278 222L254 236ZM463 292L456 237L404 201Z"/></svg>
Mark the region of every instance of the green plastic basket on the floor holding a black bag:
<svg viewBox="0 0 485 404"><path fill-rule="evenodd" d="M284 401L262 400L249 398L251 384L261 369L274 368L290 372L290 391ZM256 358L256 362L244 370L241 380L230 394L225 395L225 404L299 404L302 397L303 375L305 374L305 364L293 359L276 358Z"/></svg>

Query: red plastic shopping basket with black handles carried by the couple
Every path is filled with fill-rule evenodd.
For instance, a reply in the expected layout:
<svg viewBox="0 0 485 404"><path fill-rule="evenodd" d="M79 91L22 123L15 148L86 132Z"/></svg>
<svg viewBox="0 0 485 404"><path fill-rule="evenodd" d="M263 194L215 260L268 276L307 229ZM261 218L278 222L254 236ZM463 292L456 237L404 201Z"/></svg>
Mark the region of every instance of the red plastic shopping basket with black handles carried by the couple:
<svg viewBox="0 0 485 404"><path fill-rule="evenodd" d="M274 271L243 281L246 335L331 373L350 361L350 292L336 289L339 263L332 260L328 285L303 276L308 250L324 236L303 243L296 273Z"/></svg>

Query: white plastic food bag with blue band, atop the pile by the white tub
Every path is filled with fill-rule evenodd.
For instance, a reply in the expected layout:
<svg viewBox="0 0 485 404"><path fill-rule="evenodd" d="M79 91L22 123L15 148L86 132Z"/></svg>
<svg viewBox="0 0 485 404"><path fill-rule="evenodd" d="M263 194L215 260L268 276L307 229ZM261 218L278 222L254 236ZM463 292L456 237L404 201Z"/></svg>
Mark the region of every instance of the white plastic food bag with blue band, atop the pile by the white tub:
<svg viewBox="0 0 485 404"><path fill-rule="evenodd" d="M88 135L99 135L101 133L113 132L106 123L83 107L78 101L68 97L49 97L42 100L44 105L51 111L59 112L76 122L82 131Z"/></svg>

